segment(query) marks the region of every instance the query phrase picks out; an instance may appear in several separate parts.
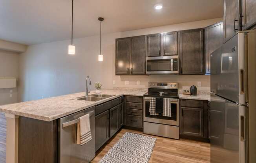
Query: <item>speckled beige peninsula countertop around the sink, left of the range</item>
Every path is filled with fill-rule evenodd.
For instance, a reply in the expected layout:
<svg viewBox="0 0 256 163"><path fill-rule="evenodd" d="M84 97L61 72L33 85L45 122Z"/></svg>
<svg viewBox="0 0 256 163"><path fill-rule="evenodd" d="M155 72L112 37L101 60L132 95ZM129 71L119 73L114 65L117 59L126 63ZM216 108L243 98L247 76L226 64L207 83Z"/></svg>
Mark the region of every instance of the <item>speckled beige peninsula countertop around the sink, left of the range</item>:
<svg viewBox="0 0 256 163"><path fill-rule="evenodd" d="M2 105L0 106L0 112L15 114L18 116L24 116L37 120L53 121L123 95L143 96L145 93L146 92L143 91L101 90L101 94L111 94L115 96L99 101L73 100L74 98L85 96L85 92L80 92L64 96L46 98L42 100ZM95 91L91 91L90 94L95 94Z"/></svg>

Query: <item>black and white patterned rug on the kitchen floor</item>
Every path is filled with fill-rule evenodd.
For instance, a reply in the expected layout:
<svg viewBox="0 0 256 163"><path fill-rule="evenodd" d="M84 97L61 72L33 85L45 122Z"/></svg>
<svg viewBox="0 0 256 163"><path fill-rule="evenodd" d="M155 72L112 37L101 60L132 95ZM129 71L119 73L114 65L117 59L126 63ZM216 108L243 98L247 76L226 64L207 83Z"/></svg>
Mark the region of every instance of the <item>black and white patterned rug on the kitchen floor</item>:
<svg viewBox="0 0 256 163"><path fill-rule="evenodd" d="M99 163L148 163L156 138L126 132Z"/></svg>

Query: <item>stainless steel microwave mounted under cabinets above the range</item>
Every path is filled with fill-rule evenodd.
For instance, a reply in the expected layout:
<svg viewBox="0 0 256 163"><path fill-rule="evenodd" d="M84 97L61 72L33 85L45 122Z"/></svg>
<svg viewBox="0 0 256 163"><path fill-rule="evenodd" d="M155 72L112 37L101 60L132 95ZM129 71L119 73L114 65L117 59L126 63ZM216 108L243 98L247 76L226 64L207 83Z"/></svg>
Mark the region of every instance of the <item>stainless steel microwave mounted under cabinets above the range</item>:
<svg viewBox="0 0 256 163"><path fill-rule="evenodd" d="M147 57L146 74L179 74L179 57L177 55Z"/></svg>

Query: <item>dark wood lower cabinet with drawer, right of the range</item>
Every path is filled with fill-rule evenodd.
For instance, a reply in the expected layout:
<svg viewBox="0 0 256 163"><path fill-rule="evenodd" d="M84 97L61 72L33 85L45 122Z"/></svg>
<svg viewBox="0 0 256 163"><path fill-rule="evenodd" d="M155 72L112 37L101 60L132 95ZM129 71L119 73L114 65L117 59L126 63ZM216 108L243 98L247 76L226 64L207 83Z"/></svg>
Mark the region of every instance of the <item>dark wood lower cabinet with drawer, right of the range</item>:
<svg viewBox="0 0 256 163"><path fill-rule="evenodd" d="M208 140L208 101L180 99L181 138Z"/></svg>

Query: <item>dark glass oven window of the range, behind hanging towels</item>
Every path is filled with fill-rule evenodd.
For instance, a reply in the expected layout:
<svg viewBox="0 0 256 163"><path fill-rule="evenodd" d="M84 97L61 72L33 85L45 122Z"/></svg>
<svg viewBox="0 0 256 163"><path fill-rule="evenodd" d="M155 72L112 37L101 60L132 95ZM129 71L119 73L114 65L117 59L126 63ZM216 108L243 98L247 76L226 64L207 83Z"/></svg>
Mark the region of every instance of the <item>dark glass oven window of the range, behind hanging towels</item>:
<svg viewBox="0 0 256 163"><path fill-rule="evenodd" d="M149 105L150 105L150 101L146 101L146 113L145 116L149 117L149 118L157 118L157 119L163 119L163 120L173 120L176 121L177 120L177 104L176 103L171 103L171 111L172 111L172 117L166 117L163 116L162 114L159 114L158 116L152 116L150 115L149 112Z"/></svg>

